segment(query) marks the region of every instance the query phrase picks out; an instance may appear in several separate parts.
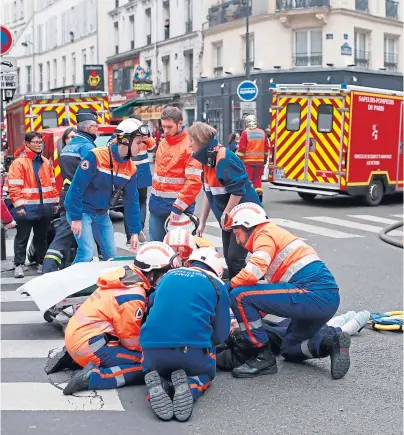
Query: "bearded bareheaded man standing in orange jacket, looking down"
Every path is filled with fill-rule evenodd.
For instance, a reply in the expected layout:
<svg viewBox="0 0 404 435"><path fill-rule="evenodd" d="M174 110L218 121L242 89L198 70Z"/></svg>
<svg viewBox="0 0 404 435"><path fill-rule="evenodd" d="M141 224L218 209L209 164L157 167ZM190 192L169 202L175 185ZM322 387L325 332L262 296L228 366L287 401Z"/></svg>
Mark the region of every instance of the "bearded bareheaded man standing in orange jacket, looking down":
<svg viewBox="0 0 404 435"><path fill-rule="evenodd" d="M202 165L192 157L188 132L182 126L177 107L161 113L164 139L156 153L152 191L149 200L150 240L163 241L164 223L176 220L184 212L192 213L202 189Z"/></svg>

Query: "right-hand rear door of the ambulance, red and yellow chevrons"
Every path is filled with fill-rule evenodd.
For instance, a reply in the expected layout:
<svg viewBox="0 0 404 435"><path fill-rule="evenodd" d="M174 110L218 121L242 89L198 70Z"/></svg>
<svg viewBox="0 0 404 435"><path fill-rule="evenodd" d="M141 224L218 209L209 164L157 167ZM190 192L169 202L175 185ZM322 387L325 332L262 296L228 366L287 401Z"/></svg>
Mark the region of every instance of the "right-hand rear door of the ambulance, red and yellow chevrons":
<svg viewBox="0 0 404 435"><path fill-rule="evenodd" d="M348 116L345 96L310 96L309 111L305 183L337 189L341 184L344 128Z"/></svg>

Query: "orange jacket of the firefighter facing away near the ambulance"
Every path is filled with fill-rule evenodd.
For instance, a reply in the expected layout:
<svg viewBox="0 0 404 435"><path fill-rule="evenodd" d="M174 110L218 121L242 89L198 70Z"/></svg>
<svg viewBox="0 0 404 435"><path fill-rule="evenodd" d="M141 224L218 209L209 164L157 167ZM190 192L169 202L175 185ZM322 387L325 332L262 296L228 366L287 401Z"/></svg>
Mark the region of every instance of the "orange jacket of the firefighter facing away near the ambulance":
<svg viewBox="0 0 404 435"><path fill-rule="evenodd" d="M269 141L264 130L247 129L241 133L237 155L246 165L265 165Z"/></svg>

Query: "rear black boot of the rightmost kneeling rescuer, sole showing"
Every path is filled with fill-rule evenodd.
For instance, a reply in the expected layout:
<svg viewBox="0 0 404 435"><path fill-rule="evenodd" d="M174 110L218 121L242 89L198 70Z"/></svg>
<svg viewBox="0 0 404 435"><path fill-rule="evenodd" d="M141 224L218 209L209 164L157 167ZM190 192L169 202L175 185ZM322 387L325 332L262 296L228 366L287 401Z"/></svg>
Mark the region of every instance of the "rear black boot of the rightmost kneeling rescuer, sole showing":
<svg viewBox="0 0 404 435"><path fill-rule="evenodd" d="M347 332L329 335L321 342L321 352L330 355L331 358L331 376L333 379L341 379L348 373L351 365L350 345L351 337Z"/></svg>

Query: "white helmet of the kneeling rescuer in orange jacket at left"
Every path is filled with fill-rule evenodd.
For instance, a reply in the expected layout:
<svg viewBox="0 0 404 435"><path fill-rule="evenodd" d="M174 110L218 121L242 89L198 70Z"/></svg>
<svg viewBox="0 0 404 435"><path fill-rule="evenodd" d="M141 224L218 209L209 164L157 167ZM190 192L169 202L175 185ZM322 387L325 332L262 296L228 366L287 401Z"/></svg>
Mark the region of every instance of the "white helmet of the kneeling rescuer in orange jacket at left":
<svg viewBox="0 0 404 435"><path fill-rule="evenodd" d="M134 265L143 272L150 272L154 269L181 267L181 261L174 249L166 243L148 242L139 248Z"/></svg>

